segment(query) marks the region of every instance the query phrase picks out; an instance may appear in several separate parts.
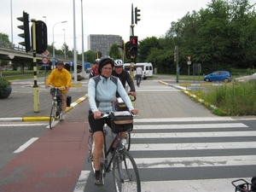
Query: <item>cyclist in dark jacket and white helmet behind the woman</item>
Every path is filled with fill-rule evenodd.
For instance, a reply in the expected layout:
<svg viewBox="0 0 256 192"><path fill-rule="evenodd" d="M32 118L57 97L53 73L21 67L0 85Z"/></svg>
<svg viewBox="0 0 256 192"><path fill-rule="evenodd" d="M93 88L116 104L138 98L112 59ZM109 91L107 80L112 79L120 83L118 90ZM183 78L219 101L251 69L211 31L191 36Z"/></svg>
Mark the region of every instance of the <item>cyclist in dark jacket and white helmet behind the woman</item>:
<svg viewBox="0 0 256 192"><path fill-rule="evenodd" d="M114 69L112 75L119 78L121 83L125 88L125 84L129 84L130 93L132 96L136 96L135 86L133 84L133 80L131 79L130 73L123 69L123 61L122 60L115 60L114 61ZM119 97L117 93L117 97Z"/></svg>

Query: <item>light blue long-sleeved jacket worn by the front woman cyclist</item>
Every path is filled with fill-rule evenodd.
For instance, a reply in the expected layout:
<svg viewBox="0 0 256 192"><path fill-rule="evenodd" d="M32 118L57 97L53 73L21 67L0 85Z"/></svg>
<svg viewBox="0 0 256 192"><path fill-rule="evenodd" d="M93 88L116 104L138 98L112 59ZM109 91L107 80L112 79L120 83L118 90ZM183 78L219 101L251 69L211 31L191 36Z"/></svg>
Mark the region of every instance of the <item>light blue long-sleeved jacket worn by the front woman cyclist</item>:
<svg viewBox="0 0 256 192"><path fill-rule="evenodd" d="M115 82L117 82L117 84ZM89 110L92 112L100 111L102 113L110 113L113 111L113 100L118 91L127 108L131 111L133 106L131 99L127 95L121 81L112 75L106 79L100 75L100 81L96 84L95 79L90 79L88 83L88 100L90 104Z"/></svg>

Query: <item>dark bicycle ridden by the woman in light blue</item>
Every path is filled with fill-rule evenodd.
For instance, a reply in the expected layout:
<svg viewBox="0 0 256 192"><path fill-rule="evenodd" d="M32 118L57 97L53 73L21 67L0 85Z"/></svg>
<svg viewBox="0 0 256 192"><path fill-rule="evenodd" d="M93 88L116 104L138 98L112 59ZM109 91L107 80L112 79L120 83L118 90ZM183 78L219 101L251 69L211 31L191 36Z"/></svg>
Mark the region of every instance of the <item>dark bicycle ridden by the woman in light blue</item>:
<svg viewBox="0 0 256 192"><path fill-rule="evenodd" d="M105 114L102 116L103 119L109 118L110 114ZM102 160L101 160L101 177L102 183L104 184L104 177L107 172L113 172L113 182L117 192L119 191L141 191L141 182L139 177L139 172L135 160L132 158L131 154L125 149L125 146L120 141L119 133L113 138L113 142L107 150L106 136L108 131L106 130L106 125L103 125L103 136L104 136L104 145L102 148ZM111 154L111 148L113 143L117 145ZM93 163L93 150L94 142L92 137L91 129L89 129L89 157L88 162L90 163L91 170L95 174L94 163ZM108 160L108 155L111 154L110 159Z"/></svg>

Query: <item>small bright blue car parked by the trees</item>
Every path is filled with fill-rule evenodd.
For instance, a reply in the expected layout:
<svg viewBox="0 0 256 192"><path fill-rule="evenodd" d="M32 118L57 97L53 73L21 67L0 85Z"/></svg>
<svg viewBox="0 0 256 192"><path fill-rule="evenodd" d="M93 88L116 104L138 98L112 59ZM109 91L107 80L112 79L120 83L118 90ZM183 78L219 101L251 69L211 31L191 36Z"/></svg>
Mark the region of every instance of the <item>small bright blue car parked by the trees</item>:
<svg viewBox="0 0 256 192"><path fill-rule="evenodd" d="M207 74L204 77L204 81L210 82L210 81L224 81L224 82L230 82L232 79L230 72L227 71L216 71L210 74Z"/></svg>

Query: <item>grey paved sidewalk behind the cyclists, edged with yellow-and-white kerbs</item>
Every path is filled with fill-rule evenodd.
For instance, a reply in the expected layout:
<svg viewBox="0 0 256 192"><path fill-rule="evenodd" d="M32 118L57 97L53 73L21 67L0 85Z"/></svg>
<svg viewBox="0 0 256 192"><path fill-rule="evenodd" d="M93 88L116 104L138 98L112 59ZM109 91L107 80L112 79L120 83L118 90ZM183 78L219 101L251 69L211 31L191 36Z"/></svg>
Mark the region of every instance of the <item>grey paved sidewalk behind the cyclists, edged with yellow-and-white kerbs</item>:
<svg viewBox="0 0 256 192"><path fill-rule="evenodd" d="M207 108L191 101L189 96L186 96L177 89L174 89L176 91L157 90L161 86L169 86L172 82L173 80L171 79L162 79L161 81L160 79L143 80L141 87L137 88L136 108L139 110L138 119L216 117ZM67 110L77 108L79 103L87 98L88 79L79 83L73 84L68 92L68 95L72 96L73 103ZM154 88L154 86L154 90L148 91ZM48 120L51 108L49 89L44 89L44 85L39 86L39 112L34 112L32 89L31 86L13 84L13 91L9 98L0 100L0 121ZM86 107L88 108L88 104Z"/></svg>

